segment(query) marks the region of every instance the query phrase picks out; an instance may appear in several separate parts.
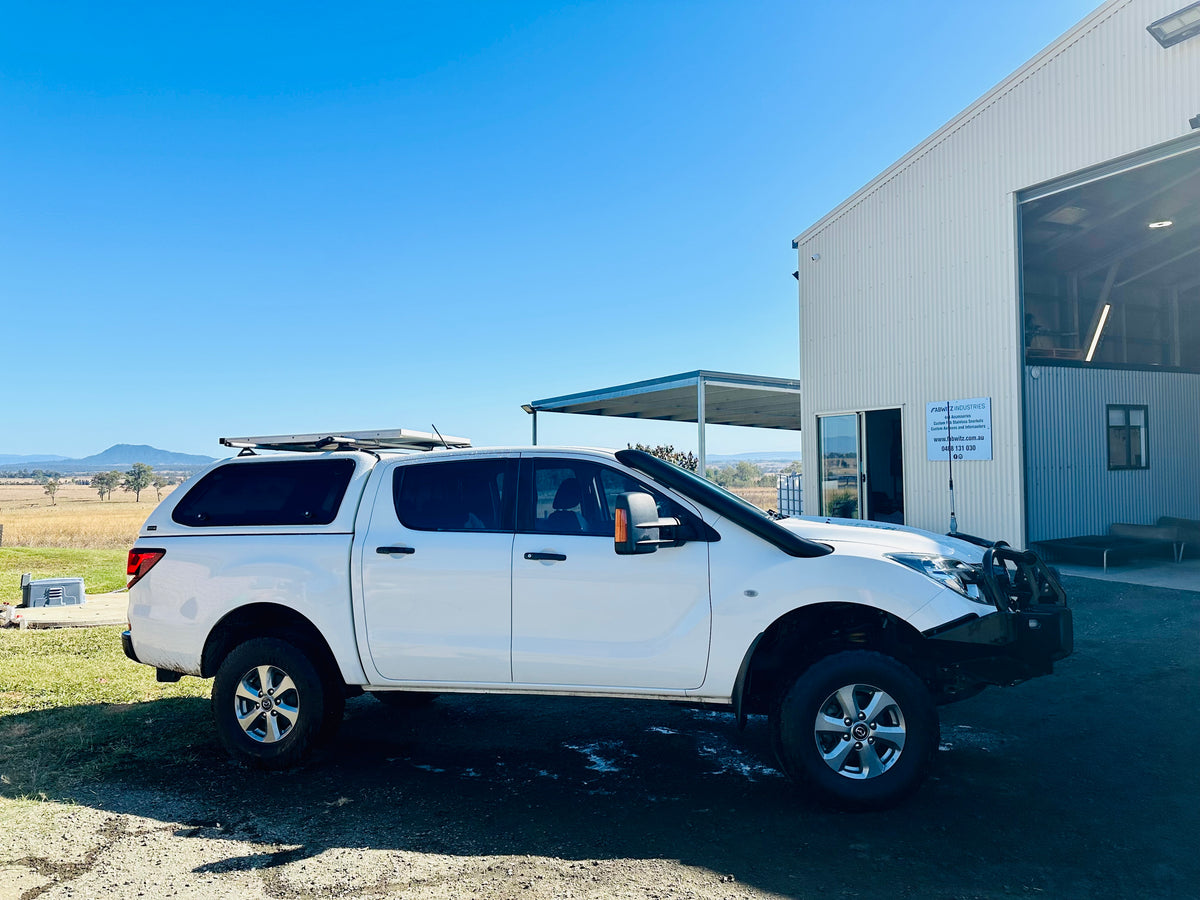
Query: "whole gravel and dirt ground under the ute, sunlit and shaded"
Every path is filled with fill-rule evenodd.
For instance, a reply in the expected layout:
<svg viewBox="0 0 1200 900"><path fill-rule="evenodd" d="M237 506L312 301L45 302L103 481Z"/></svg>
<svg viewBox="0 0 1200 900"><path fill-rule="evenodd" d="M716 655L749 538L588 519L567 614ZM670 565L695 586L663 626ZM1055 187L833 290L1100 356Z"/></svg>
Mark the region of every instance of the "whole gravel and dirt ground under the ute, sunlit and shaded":
<svg viewBox="0 0 1200 900"><path fill-rule="evenodd" d="M205 732L199 764L16 804L0 898L1200 896L1200 593L1068 590L1075 655L943 708L935 776L896 810L809 803L761 719L361 697L298 772ZM203 701L154 704L146 740L181 703Z"/></svg>

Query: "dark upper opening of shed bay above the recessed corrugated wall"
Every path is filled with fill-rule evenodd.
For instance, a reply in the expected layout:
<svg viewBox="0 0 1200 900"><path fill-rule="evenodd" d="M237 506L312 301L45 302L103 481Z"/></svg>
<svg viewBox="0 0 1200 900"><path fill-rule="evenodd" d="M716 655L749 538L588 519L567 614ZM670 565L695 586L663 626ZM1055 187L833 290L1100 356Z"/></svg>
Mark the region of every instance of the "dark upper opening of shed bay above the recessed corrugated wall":
<svg viewBox="0 0 1200 900"><path fill-rule="evenodd" d="M1200 142L1019 202L1026 365L1200 372Z"/></svg>

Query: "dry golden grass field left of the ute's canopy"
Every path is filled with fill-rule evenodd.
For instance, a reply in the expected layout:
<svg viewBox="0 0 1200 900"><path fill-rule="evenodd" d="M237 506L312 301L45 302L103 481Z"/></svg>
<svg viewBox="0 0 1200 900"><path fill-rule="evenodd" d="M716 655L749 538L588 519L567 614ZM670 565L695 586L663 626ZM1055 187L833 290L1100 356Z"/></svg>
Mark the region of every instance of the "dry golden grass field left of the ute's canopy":
<svg viewBox="0 0 1200 900"><path fill-rule="evenodd" d="M163 488L162 496L170 490ZM157 505L152 487L137 503L124 491L101 500L94 487L62 485L54 500L38 484L0 485L4 546L127 550Z"/></svg>

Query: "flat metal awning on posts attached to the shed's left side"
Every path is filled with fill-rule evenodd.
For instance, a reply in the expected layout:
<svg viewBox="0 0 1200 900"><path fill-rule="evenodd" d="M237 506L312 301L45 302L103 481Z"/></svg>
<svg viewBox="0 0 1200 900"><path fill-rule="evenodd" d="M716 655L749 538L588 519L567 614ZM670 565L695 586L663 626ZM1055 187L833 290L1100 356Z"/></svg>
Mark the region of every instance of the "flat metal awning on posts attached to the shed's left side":
<svg viewBox="0 0 1200 900"><path fill-rule="evenodd" d="M522 409L538 413L616 415L629 419L696 422L700 427L700 470L704 472L704 426L800 430L800 383L794 378L734 374L698 370L614 388L535 400Z"/></svg>

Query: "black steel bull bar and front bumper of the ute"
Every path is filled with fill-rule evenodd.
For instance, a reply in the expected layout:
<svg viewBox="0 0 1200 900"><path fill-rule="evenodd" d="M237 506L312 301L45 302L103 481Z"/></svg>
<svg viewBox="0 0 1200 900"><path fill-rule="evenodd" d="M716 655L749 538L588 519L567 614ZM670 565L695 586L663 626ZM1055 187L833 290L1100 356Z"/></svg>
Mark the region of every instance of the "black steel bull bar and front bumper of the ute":
<svg viewBox="0 0 1200 900"><path fill-rule="evenodd" d="M925 635L947 680L1018 684L1050 674L1070 655L1075 637L1067 594L1036 553L989 550L978 583L995 613Z"/></svg>

